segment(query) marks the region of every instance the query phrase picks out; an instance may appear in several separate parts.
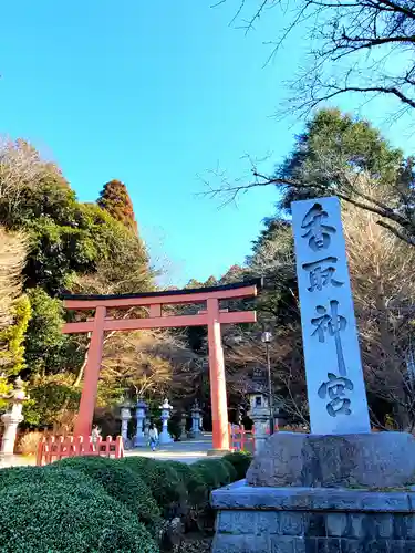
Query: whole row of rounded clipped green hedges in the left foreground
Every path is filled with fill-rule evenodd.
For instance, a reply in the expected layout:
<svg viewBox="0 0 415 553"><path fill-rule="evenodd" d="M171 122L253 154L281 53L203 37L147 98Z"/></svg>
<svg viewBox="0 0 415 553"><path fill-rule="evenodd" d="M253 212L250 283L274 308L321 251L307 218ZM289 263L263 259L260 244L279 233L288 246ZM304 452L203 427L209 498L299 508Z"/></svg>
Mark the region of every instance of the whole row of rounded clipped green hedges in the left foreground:
<svg viewBox="0 0 415 553"><path fill-rule="evenodd" d="M191 466L143 457L76 457L42 468L3 469L0 549L4 553L172 551L173 518L179 517L186 530L211 532L209 494L219 482L236 480L232 465L241 470L240 457Z"/></svg>

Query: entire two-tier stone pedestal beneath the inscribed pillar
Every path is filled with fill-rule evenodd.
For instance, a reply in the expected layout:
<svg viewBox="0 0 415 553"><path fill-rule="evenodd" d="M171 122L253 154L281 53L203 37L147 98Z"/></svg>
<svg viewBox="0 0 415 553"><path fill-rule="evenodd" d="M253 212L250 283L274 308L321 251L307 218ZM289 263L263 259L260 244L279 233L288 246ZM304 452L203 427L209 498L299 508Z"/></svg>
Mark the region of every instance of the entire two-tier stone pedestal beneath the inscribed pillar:
<svg viewBox="0 0 415 553"><path fill-rule="evenodd" d="M415 553L415 439L278 432L212 492L214 553Z"/></svg>

